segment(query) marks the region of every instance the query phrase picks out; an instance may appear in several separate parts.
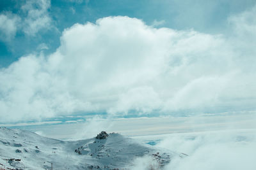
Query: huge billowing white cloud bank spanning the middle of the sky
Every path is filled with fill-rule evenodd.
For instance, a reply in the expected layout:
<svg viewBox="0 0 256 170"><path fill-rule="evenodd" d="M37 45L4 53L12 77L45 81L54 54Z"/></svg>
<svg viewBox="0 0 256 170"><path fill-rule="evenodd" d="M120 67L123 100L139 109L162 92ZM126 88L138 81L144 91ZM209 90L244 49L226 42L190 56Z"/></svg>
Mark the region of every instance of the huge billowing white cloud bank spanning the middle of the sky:
<svg viewBox="0 0 256 170"><path fill-rule="evenodd" d="M230 17L231 36L156 29L129 17L75 24L56 52L1 69L0 120L254 110L253 15L255 7Z"/></svg>

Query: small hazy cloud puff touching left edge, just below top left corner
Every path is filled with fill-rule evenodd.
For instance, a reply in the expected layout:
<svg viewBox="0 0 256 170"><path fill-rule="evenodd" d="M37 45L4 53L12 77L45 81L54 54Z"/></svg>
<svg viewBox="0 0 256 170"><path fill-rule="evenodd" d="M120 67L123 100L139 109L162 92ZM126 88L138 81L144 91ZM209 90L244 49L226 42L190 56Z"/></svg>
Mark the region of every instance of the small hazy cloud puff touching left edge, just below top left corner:
<svg viewBox="0 0 256 170"><path fill-rule="evenodd" d="M3 41L11 41L17 32L20 18L12 13L4 13L0 15L0 39Z"/></svg>

